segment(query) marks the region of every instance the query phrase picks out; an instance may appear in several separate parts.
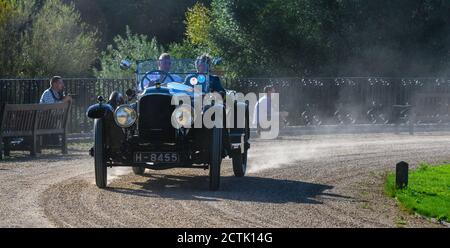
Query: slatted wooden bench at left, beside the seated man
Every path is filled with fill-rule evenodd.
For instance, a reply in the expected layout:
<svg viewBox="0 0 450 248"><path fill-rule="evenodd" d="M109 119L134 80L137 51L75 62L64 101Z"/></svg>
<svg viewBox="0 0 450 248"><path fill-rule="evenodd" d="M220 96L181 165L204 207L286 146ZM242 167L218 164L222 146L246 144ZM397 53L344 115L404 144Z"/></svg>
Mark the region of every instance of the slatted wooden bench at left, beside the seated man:
<svg viewBox="0 0 450 248"><path fill-rule="evenodd" d="M42 148L43 135L61 135L61 151L67 154L67 124L70 103L58 104L5 104L0 111L0 159L9 156L12 138L29 139L29 150L35 156ZM16 150L16 149L14 149Z"/></svg>

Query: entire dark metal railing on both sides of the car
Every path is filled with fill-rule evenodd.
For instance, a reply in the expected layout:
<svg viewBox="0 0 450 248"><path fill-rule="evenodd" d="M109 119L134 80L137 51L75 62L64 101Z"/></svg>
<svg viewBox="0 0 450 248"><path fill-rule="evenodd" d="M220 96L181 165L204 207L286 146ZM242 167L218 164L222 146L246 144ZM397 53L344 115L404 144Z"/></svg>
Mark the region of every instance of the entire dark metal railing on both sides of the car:
<svg viewBox="0 0 450 248"><path fill-rule="evenodd" d="M92 130L86 117L97 96L134 88L134 79L64 79L73 95L70 133ZM280 110L289 112L291 125L386 124L393 105L410 104L416 92L450 93L450 78L247 78L223 79L228 89L262 93L273 85L280 93ZM0 79L0 104L38 103L47 79ZM448 114L448 113L447 113ZM439 116L436 113L436 116ZM439 118L436 120L439 122Z"/></svg>

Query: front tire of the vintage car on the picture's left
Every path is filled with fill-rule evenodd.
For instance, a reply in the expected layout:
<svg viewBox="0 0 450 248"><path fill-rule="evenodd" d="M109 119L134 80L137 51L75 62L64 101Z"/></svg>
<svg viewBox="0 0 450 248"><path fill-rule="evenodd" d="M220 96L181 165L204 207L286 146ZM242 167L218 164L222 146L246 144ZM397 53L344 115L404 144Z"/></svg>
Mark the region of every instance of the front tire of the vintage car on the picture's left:
<svg viewBox="0 0 450 248"><path fill-rule="evenodd" d="M107 171L105 160L105 142L103 135L103 120L97 119L94 122L94 166L95 166L95 184L100 189L106 188Z"/></svg>

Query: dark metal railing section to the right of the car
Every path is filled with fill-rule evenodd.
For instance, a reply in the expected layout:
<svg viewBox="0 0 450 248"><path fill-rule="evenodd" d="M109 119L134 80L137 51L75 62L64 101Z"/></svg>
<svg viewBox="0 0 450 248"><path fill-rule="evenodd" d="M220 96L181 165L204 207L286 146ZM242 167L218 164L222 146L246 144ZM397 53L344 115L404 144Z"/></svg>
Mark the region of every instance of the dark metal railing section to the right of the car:
<svg viewBox="0 0 450 248"><path fill-rule="evenodd" d="M273 85L291 125L393 123L394 105L413 104L415 93L450 93L450 78L249 78L228 82L240 92ZM439 115L449 113L430 113Z"/></svg>

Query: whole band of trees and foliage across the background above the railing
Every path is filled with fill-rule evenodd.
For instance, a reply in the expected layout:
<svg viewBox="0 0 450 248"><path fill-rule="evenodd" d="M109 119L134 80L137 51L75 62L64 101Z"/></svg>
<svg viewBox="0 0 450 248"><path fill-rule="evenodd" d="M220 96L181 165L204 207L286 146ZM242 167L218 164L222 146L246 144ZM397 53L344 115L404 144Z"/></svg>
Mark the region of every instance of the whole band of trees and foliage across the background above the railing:
<svg viewBox="0 0 450 248"><path fill-rule="evenodd" d="M449 76L448 13L444 0L0 0L0 75L89 76L100 44L108 77L162 50L220 56L234 76Z"/></svg>

